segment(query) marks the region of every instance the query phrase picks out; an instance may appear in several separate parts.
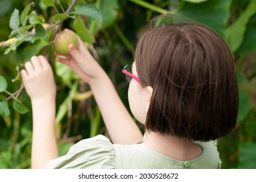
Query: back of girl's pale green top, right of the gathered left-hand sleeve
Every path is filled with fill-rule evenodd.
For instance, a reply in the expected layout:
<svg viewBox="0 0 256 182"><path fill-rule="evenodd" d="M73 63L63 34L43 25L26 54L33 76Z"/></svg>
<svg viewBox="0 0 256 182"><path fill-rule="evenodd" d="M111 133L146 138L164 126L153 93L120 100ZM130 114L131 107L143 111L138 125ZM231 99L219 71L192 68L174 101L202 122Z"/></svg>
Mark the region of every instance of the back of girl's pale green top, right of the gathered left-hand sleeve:
<svg viewBox="0 0 256 182"><path fill-rule="evenodd" d="M217 142L196 142L202 154L189 161L167 157L143 144L114 144L116 168L221 168Z"/></svg>

